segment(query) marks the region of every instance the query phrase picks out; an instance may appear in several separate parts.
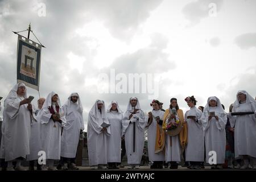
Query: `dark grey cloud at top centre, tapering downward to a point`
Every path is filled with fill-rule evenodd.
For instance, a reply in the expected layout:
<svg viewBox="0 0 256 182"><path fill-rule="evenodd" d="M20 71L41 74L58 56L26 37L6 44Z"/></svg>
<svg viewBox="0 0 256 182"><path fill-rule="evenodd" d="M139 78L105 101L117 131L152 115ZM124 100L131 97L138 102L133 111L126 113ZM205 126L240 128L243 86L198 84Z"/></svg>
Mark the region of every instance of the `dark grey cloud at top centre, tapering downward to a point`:
<svg viewBox="0 0 256 182"><path fill-rule="evenodd" d="M139 25L150 16L150 12L162 2L162 0L111 0L93 1L90 5L97 17L108 17L105 19L105 25L109 27L114 37L127 41L134 35Z"/></svg>

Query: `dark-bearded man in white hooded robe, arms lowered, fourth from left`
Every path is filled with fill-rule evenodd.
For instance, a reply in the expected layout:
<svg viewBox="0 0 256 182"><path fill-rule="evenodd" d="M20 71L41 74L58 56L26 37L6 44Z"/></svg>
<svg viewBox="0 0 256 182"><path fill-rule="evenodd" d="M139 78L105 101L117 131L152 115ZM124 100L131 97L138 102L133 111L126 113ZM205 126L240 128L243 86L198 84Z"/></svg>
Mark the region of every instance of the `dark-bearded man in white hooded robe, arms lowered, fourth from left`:
<svg viewBox="0 0 256 182"><path fill-rule="evenodd" d="M76 151L80 133L84 130L84 118L82 117L82 103L78 93L72 93L68 101L63 105L63 111L67 124L63 127L61 135L60 156L63 158L63 170L78 170L76 167Z"/></svg>

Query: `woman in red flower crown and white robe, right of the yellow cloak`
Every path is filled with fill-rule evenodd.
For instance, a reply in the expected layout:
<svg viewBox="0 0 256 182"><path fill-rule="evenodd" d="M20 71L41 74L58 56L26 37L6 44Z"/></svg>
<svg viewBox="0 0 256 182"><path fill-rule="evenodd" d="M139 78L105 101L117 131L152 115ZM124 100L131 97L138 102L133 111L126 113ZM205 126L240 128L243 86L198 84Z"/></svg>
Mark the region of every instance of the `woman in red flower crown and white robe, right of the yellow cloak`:
<svg viewBox="0 0 256 182"><path fill-rule="evenodd" d="M191 169L200 169L204 162L204 132L201 119L203 113L195 107L194 96L185 98L190 110L185 113L185 122L188 125L188 144L185 149L185 160L189 162Z"/></svg>

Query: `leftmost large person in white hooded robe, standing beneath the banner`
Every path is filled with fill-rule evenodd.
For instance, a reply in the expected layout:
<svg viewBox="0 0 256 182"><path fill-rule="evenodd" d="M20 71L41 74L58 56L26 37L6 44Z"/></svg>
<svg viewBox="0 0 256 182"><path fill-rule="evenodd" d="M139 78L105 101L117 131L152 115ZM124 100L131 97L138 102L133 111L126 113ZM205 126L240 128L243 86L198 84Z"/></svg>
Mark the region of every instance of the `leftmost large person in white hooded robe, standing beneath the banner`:
<svg viewBox="0 0 256 182"><path fill-rule="evenodd" d="M27 98L27 88L23 83L16 84L5 100L3 110L3 138L0 158L8 162L7 171L24 171L21 162L30 154L30 127L36 121L35 109Z"/></svg>

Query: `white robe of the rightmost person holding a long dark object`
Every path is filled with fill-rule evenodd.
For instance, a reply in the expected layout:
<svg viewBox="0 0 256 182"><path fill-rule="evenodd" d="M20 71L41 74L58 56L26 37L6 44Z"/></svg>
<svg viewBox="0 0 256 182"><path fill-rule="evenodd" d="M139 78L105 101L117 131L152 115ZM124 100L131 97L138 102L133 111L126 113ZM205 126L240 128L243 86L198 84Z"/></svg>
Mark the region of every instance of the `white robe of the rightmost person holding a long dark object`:
<svg viewBox="0 0 256 182"><path fill-rule="evenodd" d="M234 112L255 111L255 105L250 103L239 104ZM237 115L232 117L231 125L234 126L234 154L249 155L256 158L256 118L255 115Z"/></svg>

